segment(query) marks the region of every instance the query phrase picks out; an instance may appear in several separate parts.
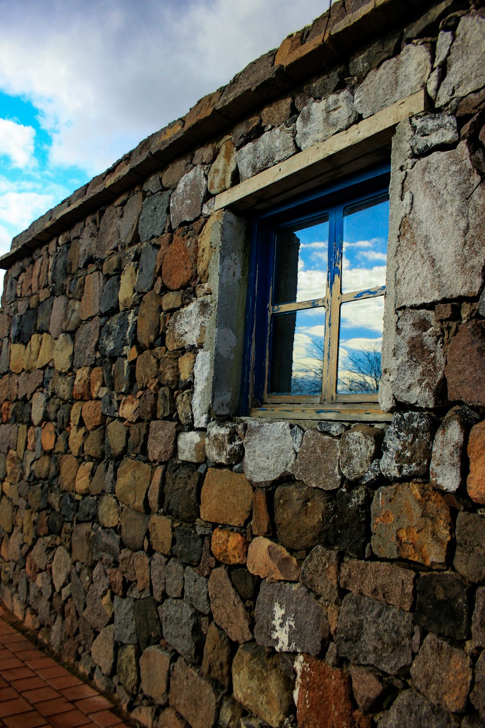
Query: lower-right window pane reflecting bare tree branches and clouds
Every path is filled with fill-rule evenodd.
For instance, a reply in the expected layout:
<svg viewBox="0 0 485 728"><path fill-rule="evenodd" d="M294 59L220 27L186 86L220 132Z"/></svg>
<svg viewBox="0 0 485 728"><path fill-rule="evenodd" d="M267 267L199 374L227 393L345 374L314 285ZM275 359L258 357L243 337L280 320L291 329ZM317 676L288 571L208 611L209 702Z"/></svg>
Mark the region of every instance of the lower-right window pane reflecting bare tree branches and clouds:
<svg viewBox="0 0 485 728"><path fill-rule="evenodd" d="M337 393L374 394L379 387L384 296L340 306Z"/></svg>

